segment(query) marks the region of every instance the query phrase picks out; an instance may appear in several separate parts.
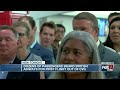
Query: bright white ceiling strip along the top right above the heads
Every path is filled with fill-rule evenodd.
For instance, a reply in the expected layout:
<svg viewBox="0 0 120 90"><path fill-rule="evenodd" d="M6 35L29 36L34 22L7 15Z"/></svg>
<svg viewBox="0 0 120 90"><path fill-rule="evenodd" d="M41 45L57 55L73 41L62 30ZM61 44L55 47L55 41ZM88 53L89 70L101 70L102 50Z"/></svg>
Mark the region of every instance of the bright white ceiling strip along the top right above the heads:
<svg viewBox="0 0 120 90"><path fill-rule="evenodd" d="M75 16L80 12L90 12L90 13L94 14L97 18L108 18L108 15L110 13L120 12L120 11L73 11L73 12L63 13L62 15Z"/></svg>

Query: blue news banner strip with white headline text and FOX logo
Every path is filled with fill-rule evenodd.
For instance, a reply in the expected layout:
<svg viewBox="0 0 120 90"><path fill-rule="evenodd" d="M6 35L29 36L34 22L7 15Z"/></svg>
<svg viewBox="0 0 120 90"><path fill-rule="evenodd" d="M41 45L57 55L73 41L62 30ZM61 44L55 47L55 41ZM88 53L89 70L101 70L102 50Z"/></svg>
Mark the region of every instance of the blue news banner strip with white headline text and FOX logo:
<svg viewBox="0 0 120 90"><path fill-rule="evenodd" d="M101 72L114 71L113 64L4 64L0 71L9 72Z"/></svg>

